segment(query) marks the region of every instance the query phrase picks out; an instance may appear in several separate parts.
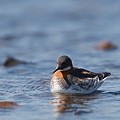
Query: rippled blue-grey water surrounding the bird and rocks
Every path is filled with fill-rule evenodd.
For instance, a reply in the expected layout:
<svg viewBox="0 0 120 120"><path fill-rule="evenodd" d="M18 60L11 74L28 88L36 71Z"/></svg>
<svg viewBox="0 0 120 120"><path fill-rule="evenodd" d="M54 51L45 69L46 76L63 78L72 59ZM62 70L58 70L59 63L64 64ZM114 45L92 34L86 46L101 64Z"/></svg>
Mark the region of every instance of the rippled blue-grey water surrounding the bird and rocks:
<svg viewBox="0 0 120 120"><path fill-rule="evenodd" d="M94 49L102 40L113 51ZM0 0L0 120L120 119L119 0ZM50 79L60 55L74 66L112 75L94 94L51 94ZM7 56L33 62L6 68Z"/></svg>

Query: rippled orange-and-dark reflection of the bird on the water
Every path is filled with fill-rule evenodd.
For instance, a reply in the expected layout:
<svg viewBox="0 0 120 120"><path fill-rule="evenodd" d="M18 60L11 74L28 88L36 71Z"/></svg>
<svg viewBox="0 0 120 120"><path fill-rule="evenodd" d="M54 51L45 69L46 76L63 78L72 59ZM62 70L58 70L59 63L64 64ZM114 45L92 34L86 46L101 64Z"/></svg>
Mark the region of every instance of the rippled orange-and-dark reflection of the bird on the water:
<svg viewBox="0 0 120 120"><path fill-rule="evenodd" d="M56 113L73 112L74 114L91 113L90 101L96 99L101 91L90 95L52 93L51 103Z"/></svg>

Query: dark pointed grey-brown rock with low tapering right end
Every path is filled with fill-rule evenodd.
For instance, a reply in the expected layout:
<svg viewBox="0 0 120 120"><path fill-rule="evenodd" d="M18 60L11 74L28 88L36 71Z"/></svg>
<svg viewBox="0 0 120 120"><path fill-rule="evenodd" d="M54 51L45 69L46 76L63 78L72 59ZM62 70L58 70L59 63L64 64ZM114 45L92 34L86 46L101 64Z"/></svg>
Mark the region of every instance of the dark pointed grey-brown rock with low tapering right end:
<svg viewBox="0 0 120 120"><path fill-rule="evenodd" d="M18 64L26 64L26 62L17 60L13 57L8 57L3 65L5 67L11 67L11 66L16 66Z"/></svg>

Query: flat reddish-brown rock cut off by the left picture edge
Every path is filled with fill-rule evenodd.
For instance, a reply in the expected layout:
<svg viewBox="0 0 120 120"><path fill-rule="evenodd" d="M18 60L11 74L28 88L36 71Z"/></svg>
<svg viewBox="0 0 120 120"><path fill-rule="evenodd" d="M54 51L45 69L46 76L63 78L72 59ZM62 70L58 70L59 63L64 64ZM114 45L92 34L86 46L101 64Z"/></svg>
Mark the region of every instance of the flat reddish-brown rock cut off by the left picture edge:
<svg viewBox="0 0 120 120"><path fill-rule="evenodd" d="M11 101L0 101L0 109L5 109L5 108L14 108L17 107L18 104L15 102L11 102Z"/></svg>

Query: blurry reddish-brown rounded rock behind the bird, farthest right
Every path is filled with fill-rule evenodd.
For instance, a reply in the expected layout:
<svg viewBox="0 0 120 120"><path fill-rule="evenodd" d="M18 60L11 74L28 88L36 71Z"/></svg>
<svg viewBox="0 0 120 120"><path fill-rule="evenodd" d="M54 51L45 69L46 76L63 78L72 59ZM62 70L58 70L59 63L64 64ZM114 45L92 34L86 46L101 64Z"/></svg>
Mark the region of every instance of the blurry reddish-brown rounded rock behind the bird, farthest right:
<svg viewBox="0 0 120 120"><path fill-rule="evenodd" d="M98 50L114 50L117 49L117 46L109 41L102 41L99 45L96 46Z"/></svg>

